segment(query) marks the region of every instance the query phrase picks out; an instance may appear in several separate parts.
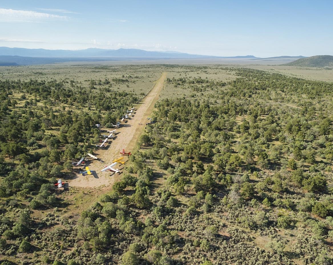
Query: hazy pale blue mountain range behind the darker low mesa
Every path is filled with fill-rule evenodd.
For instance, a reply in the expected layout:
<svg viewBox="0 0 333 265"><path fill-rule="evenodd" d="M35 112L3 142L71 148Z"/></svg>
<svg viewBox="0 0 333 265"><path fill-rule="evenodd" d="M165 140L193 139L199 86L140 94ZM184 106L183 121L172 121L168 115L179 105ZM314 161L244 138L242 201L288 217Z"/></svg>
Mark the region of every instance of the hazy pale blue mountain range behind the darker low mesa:
<svg viewBox="0 0 333 265"><path fill-rule="evenodd" d="M8 48L0 47L0 55L4 56L22 56L22 57L123 57L123 58L256 58L252 55L235 56L235 57L220 57L198 54L188 54L180 52L153 52L140 49L118 49L106 50L98 48L89 48L85 50L46 50L46 49L26 49L26 48Z"/></svg>

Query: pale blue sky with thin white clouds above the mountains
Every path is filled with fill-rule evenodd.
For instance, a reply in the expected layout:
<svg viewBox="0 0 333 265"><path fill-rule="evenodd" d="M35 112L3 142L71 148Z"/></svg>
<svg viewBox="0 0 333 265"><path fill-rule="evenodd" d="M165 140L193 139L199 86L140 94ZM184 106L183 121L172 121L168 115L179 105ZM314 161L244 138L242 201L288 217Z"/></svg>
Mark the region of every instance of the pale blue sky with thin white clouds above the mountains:
<svg viewBox="0 0 333 265"><path fill-rule="evenodd" d="M333 55L333 1L0 2L0 46Z"/></svg>

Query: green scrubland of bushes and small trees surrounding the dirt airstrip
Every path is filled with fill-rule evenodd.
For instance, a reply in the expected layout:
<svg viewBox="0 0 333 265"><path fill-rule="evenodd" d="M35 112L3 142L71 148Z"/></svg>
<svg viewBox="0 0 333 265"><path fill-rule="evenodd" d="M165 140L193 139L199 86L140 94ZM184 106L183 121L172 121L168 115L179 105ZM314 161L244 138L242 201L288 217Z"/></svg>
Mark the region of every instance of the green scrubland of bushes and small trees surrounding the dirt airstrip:
<svg viewBox="0 0 333 265"><path fill-rule="evenodd" d="M144 96L116 84L149 73L0 82L0 264L332 264L333 84L157 69L168 79L155 123L93 195L53 183L92 148L94 124Z"/></svg>

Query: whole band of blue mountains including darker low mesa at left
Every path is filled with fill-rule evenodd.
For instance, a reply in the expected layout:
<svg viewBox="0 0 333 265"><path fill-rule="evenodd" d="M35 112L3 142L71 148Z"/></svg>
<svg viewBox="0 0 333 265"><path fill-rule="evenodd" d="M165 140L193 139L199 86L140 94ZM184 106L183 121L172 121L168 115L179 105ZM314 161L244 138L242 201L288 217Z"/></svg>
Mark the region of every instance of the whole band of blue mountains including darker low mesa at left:
<svg viewBox="0 0 333 265"><path fill-rule="evenodd" d="M158 60L158 59L221 59L221 63L251 61L288 61L306 58L304 56L278 56L259 58L253 55L246 56L208 56L199 54L188 54L175 51L155 52L140 49L118 49L107 50L89 48L85 50L46 50L0 47L0 66L38 65L63 62L100 62L100 61L126 61L126 60ZM257 60L257 61L256 61ZM218 63L218 61L216 62Z"/></svg>

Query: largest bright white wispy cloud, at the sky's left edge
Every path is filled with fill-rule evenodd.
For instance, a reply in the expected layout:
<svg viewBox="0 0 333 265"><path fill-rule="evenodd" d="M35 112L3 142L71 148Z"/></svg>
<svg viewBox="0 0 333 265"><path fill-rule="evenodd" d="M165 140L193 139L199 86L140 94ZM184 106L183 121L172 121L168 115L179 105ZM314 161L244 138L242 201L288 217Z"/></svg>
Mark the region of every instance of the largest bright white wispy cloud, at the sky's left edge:
<svg viewBox="0 0 333 265"><path fill-rule="evenodd" d="M43 22L49 20L68 20L67 16L41 13L30 10L15 10L0 8L1 22Z"/></svg>

